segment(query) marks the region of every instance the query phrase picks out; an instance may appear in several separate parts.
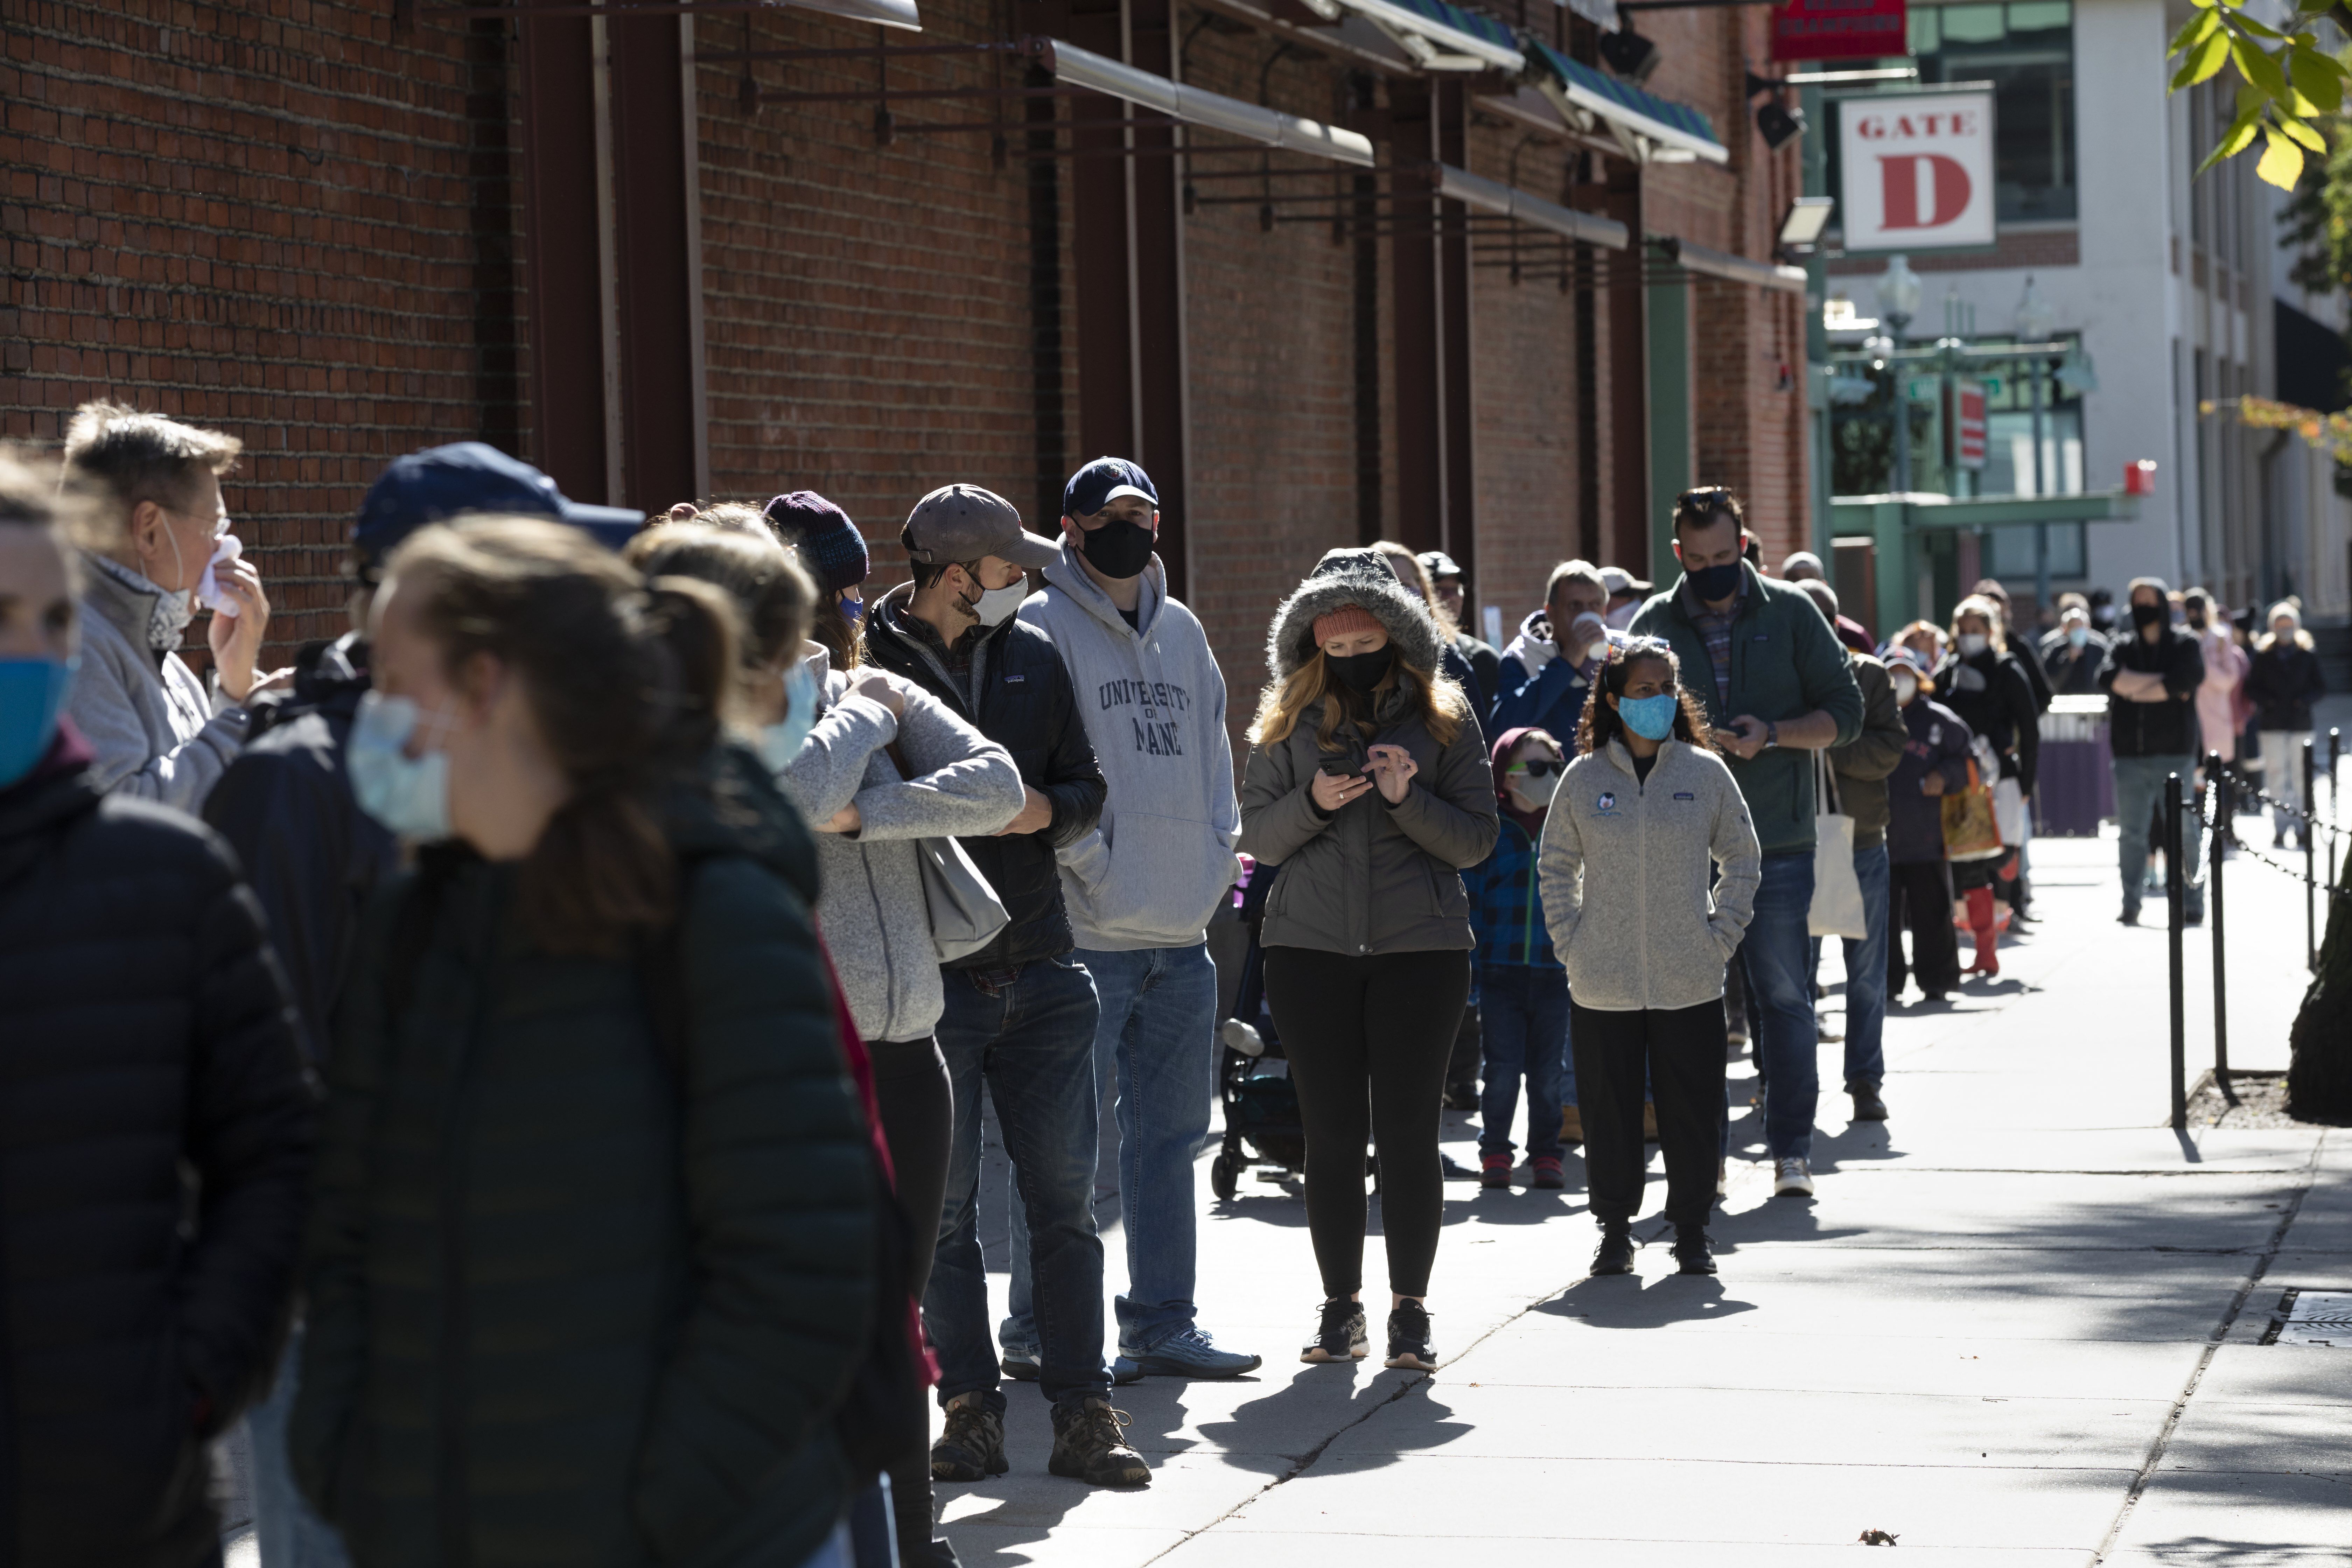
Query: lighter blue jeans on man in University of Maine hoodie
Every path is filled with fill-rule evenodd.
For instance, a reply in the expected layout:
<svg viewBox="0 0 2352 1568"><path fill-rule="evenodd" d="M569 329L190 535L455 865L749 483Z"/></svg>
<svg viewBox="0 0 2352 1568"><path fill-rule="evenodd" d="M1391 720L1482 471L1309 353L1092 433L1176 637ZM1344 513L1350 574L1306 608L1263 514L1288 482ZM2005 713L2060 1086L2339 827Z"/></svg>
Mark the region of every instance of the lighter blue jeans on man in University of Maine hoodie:
<svg viewBox="0 0 2352 1568"><path fill-rule="evenodd" d="M1120 1086L1120 1218L1127 1229L1127 1293L1120 1354L1143 1354L1192 1326L1200 1178L1216 1100L1216 964L1209 943L1070 954L1094 976L1103 1018L1094 1025L1098 1086ZM1030 1302L1028 1225L1014 1208L1011 1305L1004 1349L1037 1345Z"/></svg>

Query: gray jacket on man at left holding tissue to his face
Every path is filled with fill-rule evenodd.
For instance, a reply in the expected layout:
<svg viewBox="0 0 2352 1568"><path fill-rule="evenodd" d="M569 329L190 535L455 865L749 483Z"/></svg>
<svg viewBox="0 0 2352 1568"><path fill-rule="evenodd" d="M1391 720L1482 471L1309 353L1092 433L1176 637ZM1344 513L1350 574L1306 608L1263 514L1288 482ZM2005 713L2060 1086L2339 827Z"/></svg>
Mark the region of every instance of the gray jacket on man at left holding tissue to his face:
<svg viewBox="0 0 2352 1568"><path fill-rule="evenodd" d="M66 712L96 752L89 783L195 816L245 750L245 708L207 691L179 654L148 646L160 588L132 588L96 559L82 578L82 668Z"/></svg>

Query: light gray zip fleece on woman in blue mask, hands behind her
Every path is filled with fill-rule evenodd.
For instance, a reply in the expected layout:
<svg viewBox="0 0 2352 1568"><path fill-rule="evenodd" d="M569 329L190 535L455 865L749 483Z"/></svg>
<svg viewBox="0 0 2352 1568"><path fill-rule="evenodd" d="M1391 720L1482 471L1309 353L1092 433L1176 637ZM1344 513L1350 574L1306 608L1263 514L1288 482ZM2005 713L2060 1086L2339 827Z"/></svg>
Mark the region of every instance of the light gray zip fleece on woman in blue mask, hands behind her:
<svg viewBox="0 0 2352 1568"><path fill-rule="evenodd" d="M1536 853L1569 994L1599 1013L1722 997L1762 879L1764 851L1731 769L1682 741L1658 748L1646 780L1623 741L1571 762Z"/></svg>

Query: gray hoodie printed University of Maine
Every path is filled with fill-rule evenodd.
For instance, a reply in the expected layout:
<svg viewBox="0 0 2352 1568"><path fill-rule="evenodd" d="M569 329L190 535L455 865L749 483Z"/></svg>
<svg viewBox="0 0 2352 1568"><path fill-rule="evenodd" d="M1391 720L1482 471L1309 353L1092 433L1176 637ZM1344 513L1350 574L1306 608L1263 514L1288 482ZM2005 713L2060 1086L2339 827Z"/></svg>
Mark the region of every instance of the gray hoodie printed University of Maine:
<svg viewBox="0 0 2352 1568"><path fill-rule="evenodd" d="M1021 618L1054 639L1077 689L1110 799L1094 832L1058 851L1061 896L1080 947L1192 947L1240 860L1225 675L1190 609L1167 595L1155 555L1136 625L1087 576L1065 538L1047 588Z"/></svg>

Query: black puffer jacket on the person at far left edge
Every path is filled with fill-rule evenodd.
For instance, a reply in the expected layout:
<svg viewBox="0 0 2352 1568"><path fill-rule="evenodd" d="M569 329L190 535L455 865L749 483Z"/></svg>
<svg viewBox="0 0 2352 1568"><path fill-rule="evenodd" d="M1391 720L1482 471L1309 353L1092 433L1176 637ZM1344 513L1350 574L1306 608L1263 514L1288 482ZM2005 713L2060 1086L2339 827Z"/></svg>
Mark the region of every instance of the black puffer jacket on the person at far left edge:
<svg viewBox="0 0 2352 1568"><path fill-rule="evenodd" d="M313 1091L228 849L78 748L0 792L0 1563L216 1563L205 1439L278 1359Z"/></svg>

